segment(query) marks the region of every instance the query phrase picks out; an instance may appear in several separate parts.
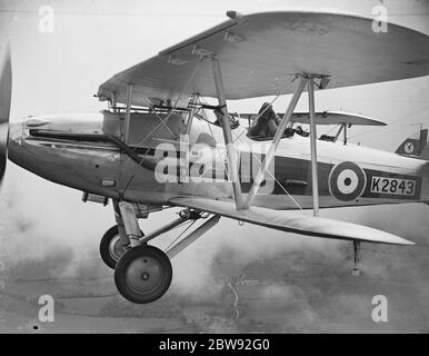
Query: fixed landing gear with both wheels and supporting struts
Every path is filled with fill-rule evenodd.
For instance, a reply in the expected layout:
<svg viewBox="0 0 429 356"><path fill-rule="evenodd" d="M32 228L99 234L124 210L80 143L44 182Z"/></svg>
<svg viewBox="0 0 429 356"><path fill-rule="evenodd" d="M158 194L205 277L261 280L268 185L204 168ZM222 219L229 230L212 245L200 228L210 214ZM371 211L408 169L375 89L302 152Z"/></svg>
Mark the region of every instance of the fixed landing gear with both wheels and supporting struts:
<svg viewBox="0 0 429 356"><path fill-rule="evenodd" d="M183 209L176 220L144 236L138 218L147 217L148 214L143 215L139 206L129 201L113 201L113 208L117 225L101 239L100 254L103 261L114 268L118 291L126 299L137 304L152 303L166 294L172 279L170 258L204 235L220 219L217 215L208 219L209 214ZM166 253L148 245L159 235L182 224L192 225L201 218L207 220L180 240L177 238Z"/></svg>

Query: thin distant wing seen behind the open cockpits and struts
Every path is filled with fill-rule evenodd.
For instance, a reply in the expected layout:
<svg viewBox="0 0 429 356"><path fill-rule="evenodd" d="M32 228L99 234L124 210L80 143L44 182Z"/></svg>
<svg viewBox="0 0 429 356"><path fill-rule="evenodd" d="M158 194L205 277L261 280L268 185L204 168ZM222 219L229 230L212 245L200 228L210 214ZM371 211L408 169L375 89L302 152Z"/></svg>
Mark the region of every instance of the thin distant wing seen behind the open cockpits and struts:
<svg viewBox="0 0 429 356"><path fill-rule="evenodd" d="M279 117L282 117L283 113L278 113ZM233 115L238 116L238 115ZM258 117L257 113L239 113L240 118L246 119L256 119ZM290 119L292 122L298 123L310 123L309 113L308 112L293 112ZM323 111L316 112L316 125L356 125L356 126L386 126L385 122L371 119L369 117L341 112L341 111Z"/></svg>

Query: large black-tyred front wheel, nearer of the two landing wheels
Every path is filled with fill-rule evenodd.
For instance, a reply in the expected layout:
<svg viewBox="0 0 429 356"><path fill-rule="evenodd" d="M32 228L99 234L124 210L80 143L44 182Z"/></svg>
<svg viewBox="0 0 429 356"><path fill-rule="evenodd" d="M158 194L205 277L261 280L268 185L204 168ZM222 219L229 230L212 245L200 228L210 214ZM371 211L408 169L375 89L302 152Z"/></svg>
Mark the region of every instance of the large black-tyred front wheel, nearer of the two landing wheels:
<svg viewBox="0 0 429 356"><path fill-rule="evenodd" d="M114 268L114 284L128 300L147 304L162 297L170 287L171 263L159 248L148 245L126 251Z"/></svg>

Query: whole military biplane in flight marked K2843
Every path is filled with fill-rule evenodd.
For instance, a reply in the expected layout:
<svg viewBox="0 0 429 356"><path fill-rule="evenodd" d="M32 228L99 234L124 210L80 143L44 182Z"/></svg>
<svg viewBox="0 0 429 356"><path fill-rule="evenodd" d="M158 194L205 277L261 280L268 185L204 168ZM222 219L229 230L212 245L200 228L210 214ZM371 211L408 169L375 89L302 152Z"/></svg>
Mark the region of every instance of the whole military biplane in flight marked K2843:
<svg viewBox="0 0 429 356"><path fill-rule="evenodd" d="M102 83L97 97L108 110L99 113L29 117L9 126L10 56L1 69L1 177L9 148L13 162L82 190L84 201L110 199L117 225L102 237L100 253L114 268L118 290L133 303L160 298L172 278L170 258L220 217L352 241L357 274L360 243L412 243L319 217L319 208L429 200L427 160L347 144L341 131L317 137L318 125L339 125L346 138L350 125L382 123L315 110L315 89L429 75L428 36L396 24L376 33L371 19L339 13L227 16ZM293 113L305 90L309 112ZM288 93L273 137L242 135L240 115L228 112L227 100ZM309 135L298 130L301 123ZM179 217L143 235L138 219L169 207L181 207ZM299 208L313 216L291 211ZM202 224L166 251L149 245L197 220Z"/></svg>

